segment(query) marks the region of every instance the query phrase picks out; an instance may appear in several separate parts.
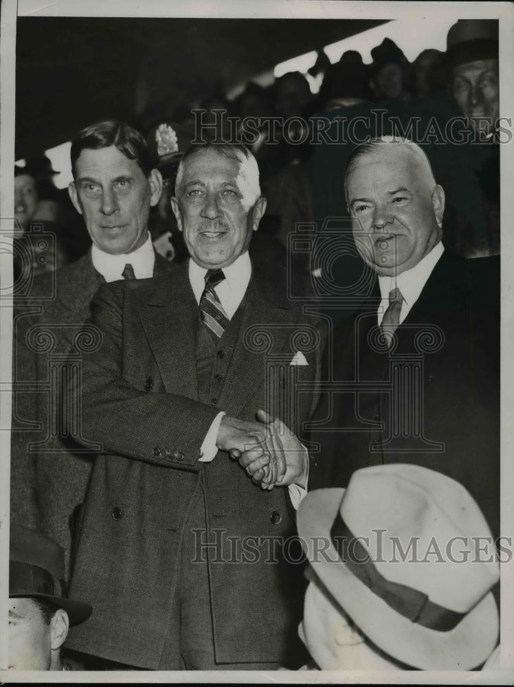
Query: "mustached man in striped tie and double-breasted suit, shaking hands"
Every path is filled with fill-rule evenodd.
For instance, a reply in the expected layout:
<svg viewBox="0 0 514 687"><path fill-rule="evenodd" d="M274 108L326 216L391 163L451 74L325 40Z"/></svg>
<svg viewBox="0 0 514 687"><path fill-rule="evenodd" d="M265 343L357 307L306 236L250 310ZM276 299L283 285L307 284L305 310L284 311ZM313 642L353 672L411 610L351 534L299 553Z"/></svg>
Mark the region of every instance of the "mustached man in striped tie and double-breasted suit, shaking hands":
<svg viewBox="0 0 514 687"><path fill-rule="evenodd" d="M293 384L319 376L323 337L249 257L265 205L243 146L186 154L172 207L190 260L93 301L102 346L82 381L84 436L104 451L71 580L95 605L76 649L150 669L301 664L289 493L298 502L306 455L280 420L298 432L313 412L315 394ZM270 465L268 486L289 490L249 479Z"/></svg>

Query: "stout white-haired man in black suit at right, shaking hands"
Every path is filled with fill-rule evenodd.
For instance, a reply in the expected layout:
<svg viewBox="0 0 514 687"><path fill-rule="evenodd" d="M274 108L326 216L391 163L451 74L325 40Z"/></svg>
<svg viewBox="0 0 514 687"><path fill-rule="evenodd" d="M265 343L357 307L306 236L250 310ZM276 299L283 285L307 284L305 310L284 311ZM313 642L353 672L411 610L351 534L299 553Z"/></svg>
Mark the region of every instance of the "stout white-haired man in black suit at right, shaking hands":
<svg viewBox="0 0 514 687"><path fill-rule="evenodd" d="M413 463L463 484L499 534L497 258L445 251L443 189L412 142L355 149L344 183L355 244L378 288L333 332L309 489ZM336 390L337 387L337 390Z"/></svg>

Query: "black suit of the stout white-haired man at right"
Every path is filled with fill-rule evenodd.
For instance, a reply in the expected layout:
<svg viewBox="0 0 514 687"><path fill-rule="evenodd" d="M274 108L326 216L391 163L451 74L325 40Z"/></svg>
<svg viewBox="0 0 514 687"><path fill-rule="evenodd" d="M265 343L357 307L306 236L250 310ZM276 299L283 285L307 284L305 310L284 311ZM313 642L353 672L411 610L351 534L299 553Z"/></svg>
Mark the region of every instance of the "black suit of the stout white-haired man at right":
<svg viewBox="0 0 514 687"><path fill-rule="evenodd" d="M312 433L321 450L313 457L311 489L346 486L353 471L369 465L418 464L461 482L498 536L497 260L466 260L445 252L396 330L398 345L390 353L378 352L370 345L377 327L379 293L355 318L335 328L333 379L355 381L356 385L352 390L334 394L332 409L328 394L322 394L315 420L320 424L327 421L324 431L318 425ZM423 330L427 332L424 337ZM418 334L421 338L416 341ZM329 367L327 357L324 379L330 375ZM393 383L395 375L398 385ZM383 383L382 388L379 383ZM403 396L405 388L410 394L407 398ZM416 388L422 401L419 406L415 401ZM401 409L407 409L410 416L402 416ZM422 418L423 430L418 418ZM401 436L405 427L410 428L410 436ZM400 436L394 436L395 433ZM416 433L423 436L415 436Z"/></svg>

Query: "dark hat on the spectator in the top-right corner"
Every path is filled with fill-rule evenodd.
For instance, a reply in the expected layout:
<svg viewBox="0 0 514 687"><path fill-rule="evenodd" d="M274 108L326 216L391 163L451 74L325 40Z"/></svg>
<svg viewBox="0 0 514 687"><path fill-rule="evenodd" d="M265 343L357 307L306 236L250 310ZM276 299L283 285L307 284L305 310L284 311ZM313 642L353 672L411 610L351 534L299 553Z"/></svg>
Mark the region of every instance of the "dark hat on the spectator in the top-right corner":
<svg viewBox="0 0 514 687"><path fill-rule="evenodd" d="M450 67L498 59L498 19L459 19L448 31L446 59Z"/></svg>

